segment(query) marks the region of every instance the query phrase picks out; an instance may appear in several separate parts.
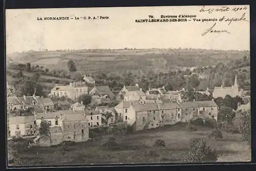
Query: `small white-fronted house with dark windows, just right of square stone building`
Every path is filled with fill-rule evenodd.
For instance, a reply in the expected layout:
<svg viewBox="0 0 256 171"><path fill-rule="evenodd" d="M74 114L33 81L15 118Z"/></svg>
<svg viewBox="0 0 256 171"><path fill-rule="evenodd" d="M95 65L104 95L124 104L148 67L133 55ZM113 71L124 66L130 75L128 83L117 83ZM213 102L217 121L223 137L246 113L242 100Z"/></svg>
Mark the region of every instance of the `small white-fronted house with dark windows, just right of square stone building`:
<svg viewBox="0 0 256 171"><path fill-rule="evenodd" d="M100 114L100 112L98 110L87 110L85 113L86 113L86 118L88 120L87 125L90 128L101 126L102 115Z"/></svg>

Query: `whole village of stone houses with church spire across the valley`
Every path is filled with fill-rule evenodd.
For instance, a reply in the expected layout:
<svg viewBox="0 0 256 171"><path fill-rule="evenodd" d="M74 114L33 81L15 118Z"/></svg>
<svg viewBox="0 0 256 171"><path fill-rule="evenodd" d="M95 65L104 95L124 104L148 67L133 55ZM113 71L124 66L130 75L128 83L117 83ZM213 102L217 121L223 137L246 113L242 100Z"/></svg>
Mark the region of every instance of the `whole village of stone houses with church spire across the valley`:
<svg viewBox="0 0 256 171"><path fill-rule="evenodd" d="M12 91L14 87L7 83L7 89ZM85 75L83 81L71 82L69 85L56 84L46 97L16 97L13 93L7 97L7 112L10 113L7 123L8 139L33 138L31 145L51 146L63 141L88 141L92 129L113 127L120 123L130 126L136 132L180 122L188 123L197 118L218 121L219 108L215 99L224 98L226 95L247 100L246 104L238 104L237 111L250 109L250 96L246 95L247 91L239 88L237 75L231 87L222 85L197 91L211 97L211 100L186 101L183 98L186 91L185 88L166 91L163 86L148 87L148 90L143 92L142 88L135 84L123 85L123 88L114 94L109 86L95 86L94 78ZM91 96L89 105L77 100L83 94ZM56 110L53 97L66 97L77 102ZM118 105L99 105L108 104L113 99L118 101ZM42 123L47 123L47 130L40 131L40 127L44 126Z"/></svg>

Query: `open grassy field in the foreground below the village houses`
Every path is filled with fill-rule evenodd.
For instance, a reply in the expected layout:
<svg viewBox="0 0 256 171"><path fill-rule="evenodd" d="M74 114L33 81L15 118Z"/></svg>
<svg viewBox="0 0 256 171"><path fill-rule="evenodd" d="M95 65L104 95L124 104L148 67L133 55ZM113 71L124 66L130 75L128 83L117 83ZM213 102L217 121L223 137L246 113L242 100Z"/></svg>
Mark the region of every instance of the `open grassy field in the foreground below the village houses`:
<svg viewBox="0 0 256 171"><path fill-rule="evenodd" d="M100 147L101 137L98 136L94 140L75 143L64 156L58 147L36 147L20 155L41 160L42 165L182 162L188 152L189 138L206 137L210 132L209 128L198 127L198 131L188 135L184 125L176 125L117 136L118 145L111 149ZM153 147L159 138L165 141L165 148ZM223 133L223 140L206 140L207 145L217 149L219 162L250 161L250 146L241 141L241 134Z"/></svg>

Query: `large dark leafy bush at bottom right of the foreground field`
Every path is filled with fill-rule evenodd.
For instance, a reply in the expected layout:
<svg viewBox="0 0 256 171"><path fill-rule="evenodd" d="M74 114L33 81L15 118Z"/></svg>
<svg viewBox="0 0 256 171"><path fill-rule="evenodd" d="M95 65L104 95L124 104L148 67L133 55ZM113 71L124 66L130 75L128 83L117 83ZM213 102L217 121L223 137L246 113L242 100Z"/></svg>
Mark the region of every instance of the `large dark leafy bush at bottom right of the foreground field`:
<svg viewBox="0 0 256 171"><path fill-rule="evenodd" d="M202 138L189 140L189 152L184 156L185 162L216 162L217 158L217 151L206 146Z"/></svg>

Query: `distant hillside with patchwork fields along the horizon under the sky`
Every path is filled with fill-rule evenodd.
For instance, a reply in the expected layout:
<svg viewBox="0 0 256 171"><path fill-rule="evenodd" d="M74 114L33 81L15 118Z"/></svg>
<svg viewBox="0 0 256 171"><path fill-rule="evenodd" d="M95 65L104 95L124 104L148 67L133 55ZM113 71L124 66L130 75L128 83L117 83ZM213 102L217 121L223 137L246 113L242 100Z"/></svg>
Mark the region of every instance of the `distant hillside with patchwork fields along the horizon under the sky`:
<svg viewBox="0 0 256 171"><path fill-rule="evenodd" d="M67 62L72 59L77 69L82 72L147 72L152 69L168 71L177 67L210 66L244 56L250 56L249 52L196 49L32 51L10 54L7 56L7 62L30 62L31 65L44 66L50 70L67 70Z"/></svg>

